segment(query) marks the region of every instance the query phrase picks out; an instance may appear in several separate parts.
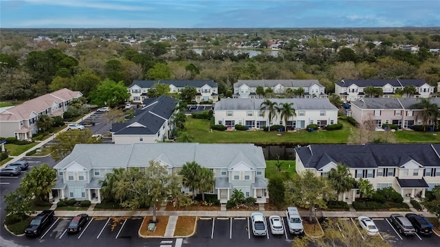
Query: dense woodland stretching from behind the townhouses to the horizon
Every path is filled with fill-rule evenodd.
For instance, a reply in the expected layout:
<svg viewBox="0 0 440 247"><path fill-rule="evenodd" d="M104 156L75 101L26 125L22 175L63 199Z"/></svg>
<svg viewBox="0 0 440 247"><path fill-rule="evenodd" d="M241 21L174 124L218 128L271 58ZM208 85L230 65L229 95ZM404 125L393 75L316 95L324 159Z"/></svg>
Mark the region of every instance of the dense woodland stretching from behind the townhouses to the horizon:
<svg viewBox="0 0 440 247"><path fill-rule="evenodd" d="M327 93L344 78L423 78L435 86L440 57L430 49L440 48L438 31L2 30L0 99L30 99L64 87L90 97L105 79L126 86L133 80L214 80L223 97L239 79L318 79ZM283 40L277 56L269 40ZM252 50L260 54L251 58L236 43L259 43Z"/></svg>

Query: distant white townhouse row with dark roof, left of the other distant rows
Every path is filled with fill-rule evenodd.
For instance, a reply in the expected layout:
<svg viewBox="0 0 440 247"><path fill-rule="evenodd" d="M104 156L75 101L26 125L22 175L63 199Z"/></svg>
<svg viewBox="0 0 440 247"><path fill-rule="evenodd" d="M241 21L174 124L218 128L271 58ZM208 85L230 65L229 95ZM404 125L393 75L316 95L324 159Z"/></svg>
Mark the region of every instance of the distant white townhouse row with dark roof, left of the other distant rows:
<svg viewBox="0 0 440 247"><path fill-rule="evenodd" d="M129 86L130 102L144 102L148 89L157 83L170 86L170 93L180 93L186 86L194 87L197 95L192 100L197 103L219 100L219 86L213 80L135 80Z"/></svg>

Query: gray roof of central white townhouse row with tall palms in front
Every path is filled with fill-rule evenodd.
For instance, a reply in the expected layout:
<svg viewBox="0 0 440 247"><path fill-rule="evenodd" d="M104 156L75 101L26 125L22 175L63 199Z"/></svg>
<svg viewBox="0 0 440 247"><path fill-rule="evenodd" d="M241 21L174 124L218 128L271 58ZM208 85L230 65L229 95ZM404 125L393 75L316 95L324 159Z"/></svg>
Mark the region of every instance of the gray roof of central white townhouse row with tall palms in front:
<svg viewBox="0 0 440 247"><path fill-rule="evenodd" d="M294 103L295 110L338 110L329 99L269 99L278 104ZM221 99L215 104L214 110L260 110L265 99Z"/></svg>

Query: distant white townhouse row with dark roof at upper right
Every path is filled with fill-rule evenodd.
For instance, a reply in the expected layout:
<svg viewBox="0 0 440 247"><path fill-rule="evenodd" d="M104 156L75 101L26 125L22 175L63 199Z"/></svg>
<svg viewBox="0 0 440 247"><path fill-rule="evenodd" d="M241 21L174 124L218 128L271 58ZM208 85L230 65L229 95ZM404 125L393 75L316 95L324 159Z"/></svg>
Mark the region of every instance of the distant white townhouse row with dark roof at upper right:
<svg viewBox="0 0 440 247"><path fill-rule="evenodd" d="M434 86L430 86L424 79L369 79L369 80L341 80L335 84L335 93L344 101L353 101L365 97L365 88L374 86L384 92L382 97L393 97L396 89L405 86L415 86L416 93L411 97L431 97Z"/></svg>

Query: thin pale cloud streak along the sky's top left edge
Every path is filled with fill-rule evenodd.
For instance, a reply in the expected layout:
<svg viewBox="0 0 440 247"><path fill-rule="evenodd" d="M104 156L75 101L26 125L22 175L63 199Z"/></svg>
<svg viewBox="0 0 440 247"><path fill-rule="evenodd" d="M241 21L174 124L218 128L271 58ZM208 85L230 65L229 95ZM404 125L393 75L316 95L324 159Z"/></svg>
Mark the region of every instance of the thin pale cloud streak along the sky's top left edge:
<svg viewBox="0 0 440 247"><path fill-rule="evenodd" d="M124 4L113 4L108 3L109 1L71 1L71 0L25 0L32 4L44 4L44 5L61 5L67 7L77 7L77 8L98 8L104 10L128 10L128 11L148 11L154 10L151 7L145 7L141 5L124 5ZM123 3L123 1L122 1ZM131 3L131 2L127 2Z"/></svg>

